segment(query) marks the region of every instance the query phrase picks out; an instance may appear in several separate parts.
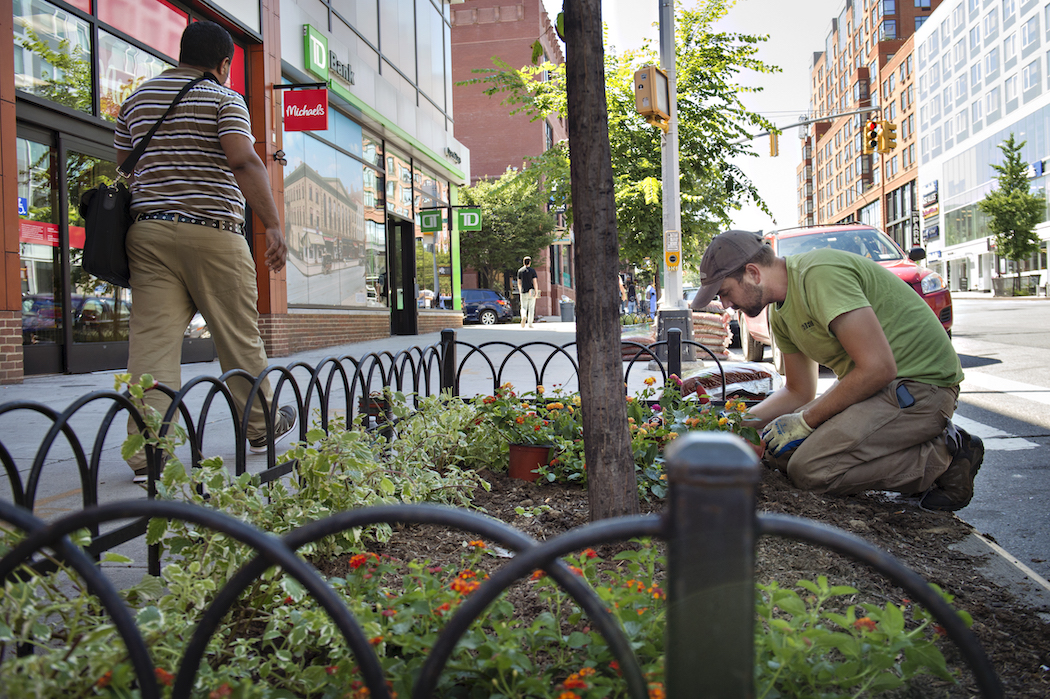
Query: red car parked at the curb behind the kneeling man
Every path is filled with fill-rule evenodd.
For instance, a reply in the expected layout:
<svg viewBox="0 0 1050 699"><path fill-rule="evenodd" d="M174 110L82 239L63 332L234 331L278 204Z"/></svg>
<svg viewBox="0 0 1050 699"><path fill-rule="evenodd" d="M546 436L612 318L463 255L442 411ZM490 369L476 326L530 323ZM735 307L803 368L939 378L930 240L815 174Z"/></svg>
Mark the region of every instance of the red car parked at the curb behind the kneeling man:
<svg viewBox="0 0 1050 699"><path fill-rule="evenodd" d="M951 335L953 321L951 292L948 291L948 285L940 274L916 264L919 260L925 259L926 251L924 249L912 248L909 253L905 254L888 235L864 224L774 231L765 238L773 246L773 251L780 257L789 257L822 248L834 248L874 259L915 289L916 293L922 296L923 300L932 309L945 332L949 336ZM770 335L766 313L768 311L763 310L755 318L749 318L740 312L737 313L740 346L749 361L761 361L765 347L772 347L773 362L778 368L782 368L779 353Z"/></svg>

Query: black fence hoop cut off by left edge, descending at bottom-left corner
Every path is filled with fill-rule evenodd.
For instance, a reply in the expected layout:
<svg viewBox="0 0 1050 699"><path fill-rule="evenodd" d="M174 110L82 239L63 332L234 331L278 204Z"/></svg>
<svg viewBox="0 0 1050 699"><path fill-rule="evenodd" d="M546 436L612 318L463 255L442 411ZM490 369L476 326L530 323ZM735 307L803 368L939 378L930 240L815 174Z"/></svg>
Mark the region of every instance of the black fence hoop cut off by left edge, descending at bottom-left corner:
<svg viewBox="0 0 1050 699"><path fill-rule="evenodd" d="M35 517L25 508L3 501L0 501L0 521L7 522L27 534L47 528L42 520ZM124 641L124 648L127 649L143 699L160 699L161 691L153 674L153 660L149 657L149 650L131 616L131 610L124 603L120 592L102 574L102 570L94 565L94 562L84 551L74 546L67 536L60 537L51 548L60 559L84 579L88 591L99 599L99 603L112 619L113 628Z"/></svg>

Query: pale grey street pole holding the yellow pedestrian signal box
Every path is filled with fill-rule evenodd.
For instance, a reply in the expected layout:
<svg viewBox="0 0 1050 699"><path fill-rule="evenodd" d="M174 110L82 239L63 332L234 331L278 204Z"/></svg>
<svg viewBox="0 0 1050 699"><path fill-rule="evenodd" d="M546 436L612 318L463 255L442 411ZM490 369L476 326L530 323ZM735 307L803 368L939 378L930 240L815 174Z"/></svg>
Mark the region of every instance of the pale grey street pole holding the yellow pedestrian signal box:
<svg viewBox="0 0 1050 699"><path fill-rule="evenodd" d="M678 106L677 75L674 67L674 0L659 0L659 65L667 72L668 129L660 137L664 181L664 259L659 261L664 272L664 298L662 309L684 309L681 298L681 202L678 188ZM667 266L668 237L676 236L678 266ZM687 338L687 339L692 339Z"/></svg>

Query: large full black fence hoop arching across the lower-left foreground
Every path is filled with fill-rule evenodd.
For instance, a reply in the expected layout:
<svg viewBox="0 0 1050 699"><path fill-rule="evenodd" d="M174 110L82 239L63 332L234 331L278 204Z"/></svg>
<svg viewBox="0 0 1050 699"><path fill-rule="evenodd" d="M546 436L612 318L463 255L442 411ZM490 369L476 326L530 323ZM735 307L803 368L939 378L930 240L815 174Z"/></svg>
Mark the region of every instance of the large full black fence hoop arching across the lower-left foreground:
<svg viewBox="0 0 1050 699"><path fill-rule="evenodd" d="M78 529L91 524L98 526L104 522L132 517L182 520L207 527L256 550L269 566L278 566L284 569L286 574L294 577L310 592L342 633L372 696L390 699L382 668L375 651L354 615L342 605L335 590L321 578L313 567L289 549L281 539L211 508L163 500L124 501L67 514L37 531L29 532L22 542L16 545L3 558L0 558L0 582L5 580L18 566L27 560L35 551L44 548L56 549L63 537ZM191 670L191 674L186 668L180 668L172 696L180 699L188 697L193 686L196 668ZM180 683L180 680L184 681ZM140 685L145 686L143 677L139 677L139 682ZM155 685L156 678L150 677L148 682Z"/></svg>

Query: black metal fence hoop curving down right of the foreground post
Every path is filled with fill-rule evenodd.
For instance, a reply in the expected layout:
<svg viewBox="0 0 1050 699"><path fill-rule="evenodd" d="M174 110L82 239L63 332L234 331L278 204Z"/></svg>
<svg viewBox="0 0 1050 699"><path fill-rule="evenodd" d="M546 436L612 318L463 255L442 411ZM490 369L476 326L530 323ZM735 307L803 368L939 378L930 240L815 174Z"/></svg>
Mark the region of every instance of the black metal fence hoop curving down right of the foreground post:
<svg viewBox="0 0 1050 699"><path fill-rule="evenodd" d="M999 676L976 636L921 575L882 549L842 530L786 514L759 514L757 518L759 535L783 536L830 549L863 563L906 591L933 615L959 648L982 695L1004 696Z"/></svg>

